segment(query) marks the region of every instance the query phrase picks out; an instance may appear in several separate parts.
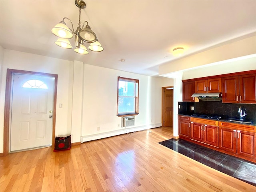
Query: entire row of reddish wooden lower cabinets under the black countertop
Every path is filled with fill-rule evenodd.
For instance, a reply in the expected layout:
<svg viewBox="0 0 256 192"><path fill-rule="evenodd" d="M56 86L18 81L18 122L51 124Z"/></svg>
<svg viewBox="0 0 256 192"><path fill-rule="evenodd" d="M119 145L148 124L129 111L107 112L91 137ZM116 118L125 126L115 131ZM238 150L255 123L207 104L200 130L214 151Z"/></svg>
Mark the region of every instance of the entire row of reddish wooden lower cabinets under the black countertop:
<svg viewBox="0 0 256 192"><path fill-rule="evenodd" d="M256 126L178 115L178 134L181 139L256 162Z"/></svg>

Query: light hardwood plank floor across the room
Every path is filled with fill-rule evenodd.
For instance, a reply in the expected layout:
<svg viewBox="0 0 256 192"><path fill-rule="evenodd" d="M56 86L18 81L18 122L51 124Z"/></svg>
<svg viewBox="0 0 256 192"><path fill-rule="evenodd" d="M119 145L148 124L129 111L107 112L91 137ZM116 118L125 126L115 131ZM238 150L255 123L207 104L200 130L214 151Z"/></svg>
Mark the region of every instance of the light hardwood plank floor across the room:
<svg viewBox="0 0 256 192"><path fill-rule="evenodd" d="M150 132L151 131L151 132ZM172 128L85 142L71 150L42 148L1 157L1 192L256 192L158 142Z"/></svg>

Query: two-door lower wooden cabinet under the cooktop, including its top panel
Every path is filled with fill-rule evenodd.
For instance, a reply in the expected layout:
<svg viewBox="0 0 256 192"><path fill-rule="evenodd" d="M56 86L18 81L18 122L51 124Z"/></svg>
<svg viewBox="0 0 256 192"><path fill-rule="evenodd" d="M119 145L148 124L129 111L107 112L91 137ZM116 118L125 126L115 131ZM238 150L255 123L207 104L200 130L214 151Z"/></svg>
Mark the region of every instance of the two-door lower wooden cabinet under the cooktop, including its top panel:
<svg viewBox="0 0 256 192"><path fill-rule="evenodd" d="M190 139L218 147L218 121L192 117Z"/></svg>

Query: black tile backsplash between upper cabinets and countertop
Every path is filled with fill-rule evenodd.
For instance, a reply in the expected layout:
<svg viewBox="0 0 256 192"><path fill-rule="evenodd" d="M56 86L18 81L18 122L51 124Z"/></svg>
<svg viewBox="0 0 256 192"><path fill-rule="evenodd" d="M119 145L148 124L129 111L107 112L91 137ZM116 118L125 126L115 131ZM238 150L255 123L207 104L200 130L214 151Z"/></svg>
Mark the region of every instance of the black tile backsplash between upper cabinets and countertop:
<svg viewBox="0 0 256 192"><path fill-rule="evenodd" d="M256 104L222 103L215 101L179 102L179 114L216 114L223 118L240 118L239 107L246 110L245 120L256 121ZM194 110L191 110L194 106Z"/></svg>

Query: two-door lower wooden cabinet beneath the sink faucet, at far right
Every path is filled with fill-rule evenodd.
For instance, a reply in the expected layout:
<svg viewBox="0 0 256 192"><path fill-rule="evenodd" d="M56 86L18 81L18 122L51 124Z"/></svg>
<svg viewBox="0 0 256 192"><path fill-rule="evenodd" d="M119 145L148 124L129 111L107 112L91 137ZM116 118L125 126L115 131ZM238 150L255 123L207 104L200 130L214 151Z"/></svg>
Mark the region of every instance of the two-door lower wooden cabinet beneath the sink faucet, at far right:
<svg viewBox="0 0 256 192"><path fill-rule="evenodd" d="M219 148L231 154L255 158L255 127L256 126L219 122Z"/></svg>

